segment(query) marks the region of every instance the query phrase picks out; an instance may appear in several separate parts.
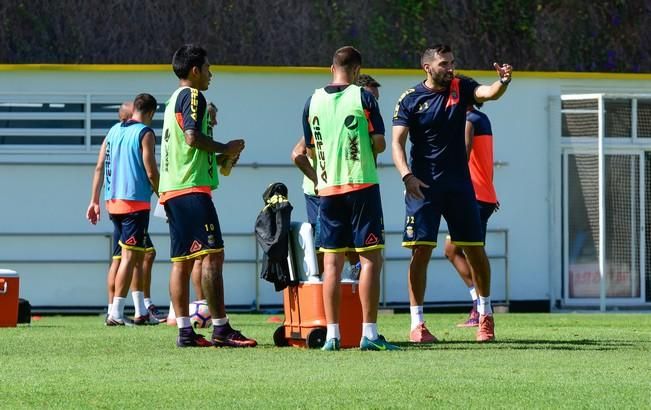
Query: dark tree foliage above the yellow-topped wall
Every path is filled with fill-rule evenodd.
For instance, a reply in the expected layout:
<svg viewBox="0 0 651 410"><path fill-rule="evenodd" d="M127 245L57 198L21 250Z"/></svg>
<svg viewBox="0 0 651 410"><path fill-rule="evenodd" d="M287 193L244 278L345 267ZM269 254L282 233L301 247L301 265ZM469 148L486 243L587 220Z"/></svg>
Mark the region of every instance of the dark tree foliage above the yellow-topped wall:
<svg viewBox="0 0 651 410"><path fill-rule="evenodd" d="M0 3L0 62L324 66L354 45L366 67L414 68L424 48L458 66L651 72L649 0L31 0Z"/></svg>

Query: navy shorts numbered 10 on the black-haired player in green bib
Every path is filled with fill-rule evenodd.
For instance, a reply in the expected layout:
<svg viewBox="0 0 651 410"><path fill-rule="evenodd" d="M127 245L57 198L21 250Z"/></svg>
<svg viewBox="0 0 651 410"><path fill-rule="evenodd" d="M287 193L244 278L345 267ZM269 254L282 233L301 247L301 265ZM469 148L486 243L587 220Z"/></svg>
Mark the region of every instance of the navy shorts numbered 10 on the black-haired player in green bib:
<svg viewBox="0 0 651 410"><path fill-rule="evenodd" d="M217 211L210 195L190 193L168 199L165 212L170 227L172 262L224 250Z"/></svg>

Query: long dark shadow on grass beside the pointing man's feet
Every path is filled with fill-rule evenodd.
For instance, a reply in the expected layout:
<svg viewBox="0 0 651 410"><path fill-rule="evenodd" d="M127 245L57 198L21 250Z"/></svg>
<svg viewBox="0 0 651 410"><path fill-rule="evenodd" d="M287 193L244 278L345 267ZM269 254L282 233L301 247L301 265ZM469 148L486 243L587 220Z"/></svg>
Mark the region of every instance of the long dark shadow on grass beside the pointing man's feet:
<svg viewBox="0 0 651 410"><path fill-rule="evenodd" d="M628 342L622 340L527 340L527 339L501 339L490 343L477 343L473 341L442 340L434 344L417 345L409 342L394 343L408 350L476 350L478 348L491 349L519 349L519 350L620 350L639 345L642 342Z"/></svg>

